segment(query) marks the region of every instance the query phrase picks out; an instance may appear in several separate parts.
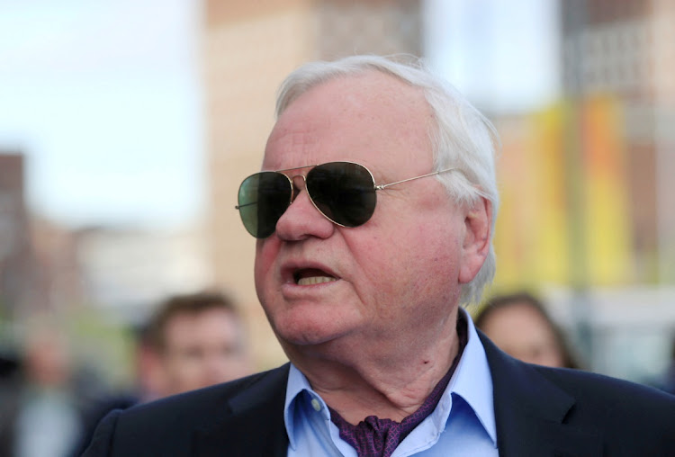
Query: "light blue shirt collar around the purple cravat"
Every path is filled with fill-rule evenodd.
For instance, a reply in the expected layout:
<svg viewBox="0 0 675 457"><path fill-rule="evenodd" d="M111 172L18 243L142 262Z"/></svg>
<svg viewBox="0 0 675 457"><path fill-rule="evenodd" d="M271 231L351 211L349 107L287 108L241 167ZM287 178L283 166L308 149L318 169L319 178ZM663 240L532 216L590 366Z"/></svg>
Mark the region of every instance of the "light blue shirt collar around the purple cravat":
<svg viewBox="0 0 675 457"><path fill-rule="evenodd" d="M473 409L483 428L490 435L492 443L496 446L497 427L495 426L492 377L488 358L485 355L485 349L482 347L471 316L463 308L460 308L458 312L464 313L468 341L464 347L464 354L462 354L462 358L455 369L455 374L448 383L436 411L432 412L430 417L436 420L440 419L445 424L450 414L450 408L445 407L452 404L451 397L453 394L458 395ZM310 381L291 363L291 369L288 372L288 383L286 385L284 423L289 444L293 450L296 449L296 408L302 408L300 405L301 394L308 396L308 401L311 402L314 408L320 406L320 412L325 420L330 420L329 408L326 402L311 389Z"/></svg>

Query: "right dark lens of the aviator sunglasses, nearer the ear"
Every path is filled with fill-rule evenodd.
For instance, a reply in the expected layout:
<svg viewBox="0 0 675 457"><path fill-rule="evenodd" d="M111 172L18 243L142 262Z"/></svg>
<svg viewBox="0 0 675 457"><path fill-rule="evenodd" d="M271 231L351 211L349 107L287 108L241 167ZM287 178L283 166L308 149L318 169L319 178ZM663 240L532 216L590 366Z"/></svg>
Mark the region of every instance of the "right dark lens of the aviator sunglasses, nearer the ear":
<svg viewBox="0 0 675 457"><path fill-rule="evenodd" d="M307 192L329 220L345 227L365 224L375 211L373 175L358 164L330 162L315 166L307 174Z"/></svg>

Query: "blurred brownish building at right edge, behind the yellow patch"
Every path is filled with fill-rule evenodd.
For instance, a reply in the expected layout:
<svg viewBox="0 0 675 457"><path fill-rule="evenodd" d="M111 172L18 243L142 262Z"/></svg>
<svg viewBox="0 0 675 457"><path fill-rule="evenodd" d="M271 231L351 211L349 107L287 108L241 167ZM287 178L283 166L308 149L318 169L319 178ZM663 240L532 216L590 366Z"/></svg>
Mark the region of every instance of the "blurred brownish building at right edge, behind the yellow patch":
<svg viewBox="0 0 675 457"><path fill-rule="evenodd" d="M626 220L634 277L673 284L675 4L669 0L560 4L564 94L577 107L593 102L597 106L602 97L613 105L611 115L617 118L617 148L605 156L617 164L618 184L628 190ZM594 134L579 131L582 138ZM592 154L577 159L588 164Z"/></svg>

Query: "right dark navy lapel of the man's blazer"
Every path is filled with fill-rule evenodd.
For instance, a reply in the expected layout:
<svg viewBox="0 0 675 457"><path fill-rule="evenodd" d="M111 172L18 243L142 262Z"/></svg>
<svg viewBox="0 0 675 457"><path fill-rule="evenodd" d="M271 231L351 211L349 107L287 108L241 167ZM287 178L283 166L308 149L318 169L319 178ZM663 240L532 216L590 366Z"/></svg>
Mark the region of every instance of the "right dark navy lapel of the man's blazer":
<svg viewBox="0 0 675 457"><path fill-rule="evenodd" d="M495 346L479 331L492 373L501 457L601 455L597 432L565 423L576 400L532 365Z"/></svg>

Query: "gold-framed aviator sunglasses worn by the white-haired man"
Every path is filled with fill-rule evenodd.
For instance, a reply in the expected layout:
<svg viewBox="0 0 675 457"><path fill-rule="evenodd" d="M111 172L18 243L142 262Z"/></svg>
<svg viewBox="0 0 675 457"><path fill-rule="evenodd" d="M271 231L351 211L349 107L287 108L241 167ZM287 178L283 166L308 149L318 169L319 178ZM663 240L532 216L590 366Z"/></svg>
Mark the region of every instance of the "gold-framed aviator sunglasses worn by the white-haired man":
<svg viewBox="0 0 675 457"><path fill-rule="evenodd" d="M306 176L283 173L309 167L311 170ZM265 171L250 175L241 183L235 208L248 233L257 238L269 237L275 233L276 222L296 196L298 187L293 180L302 177L312 204L326 219L341 227L358 227L373 216L376 191L455 169L446 168L389 184L375 184L370 170L354 162L329 162Z"/></svg>

